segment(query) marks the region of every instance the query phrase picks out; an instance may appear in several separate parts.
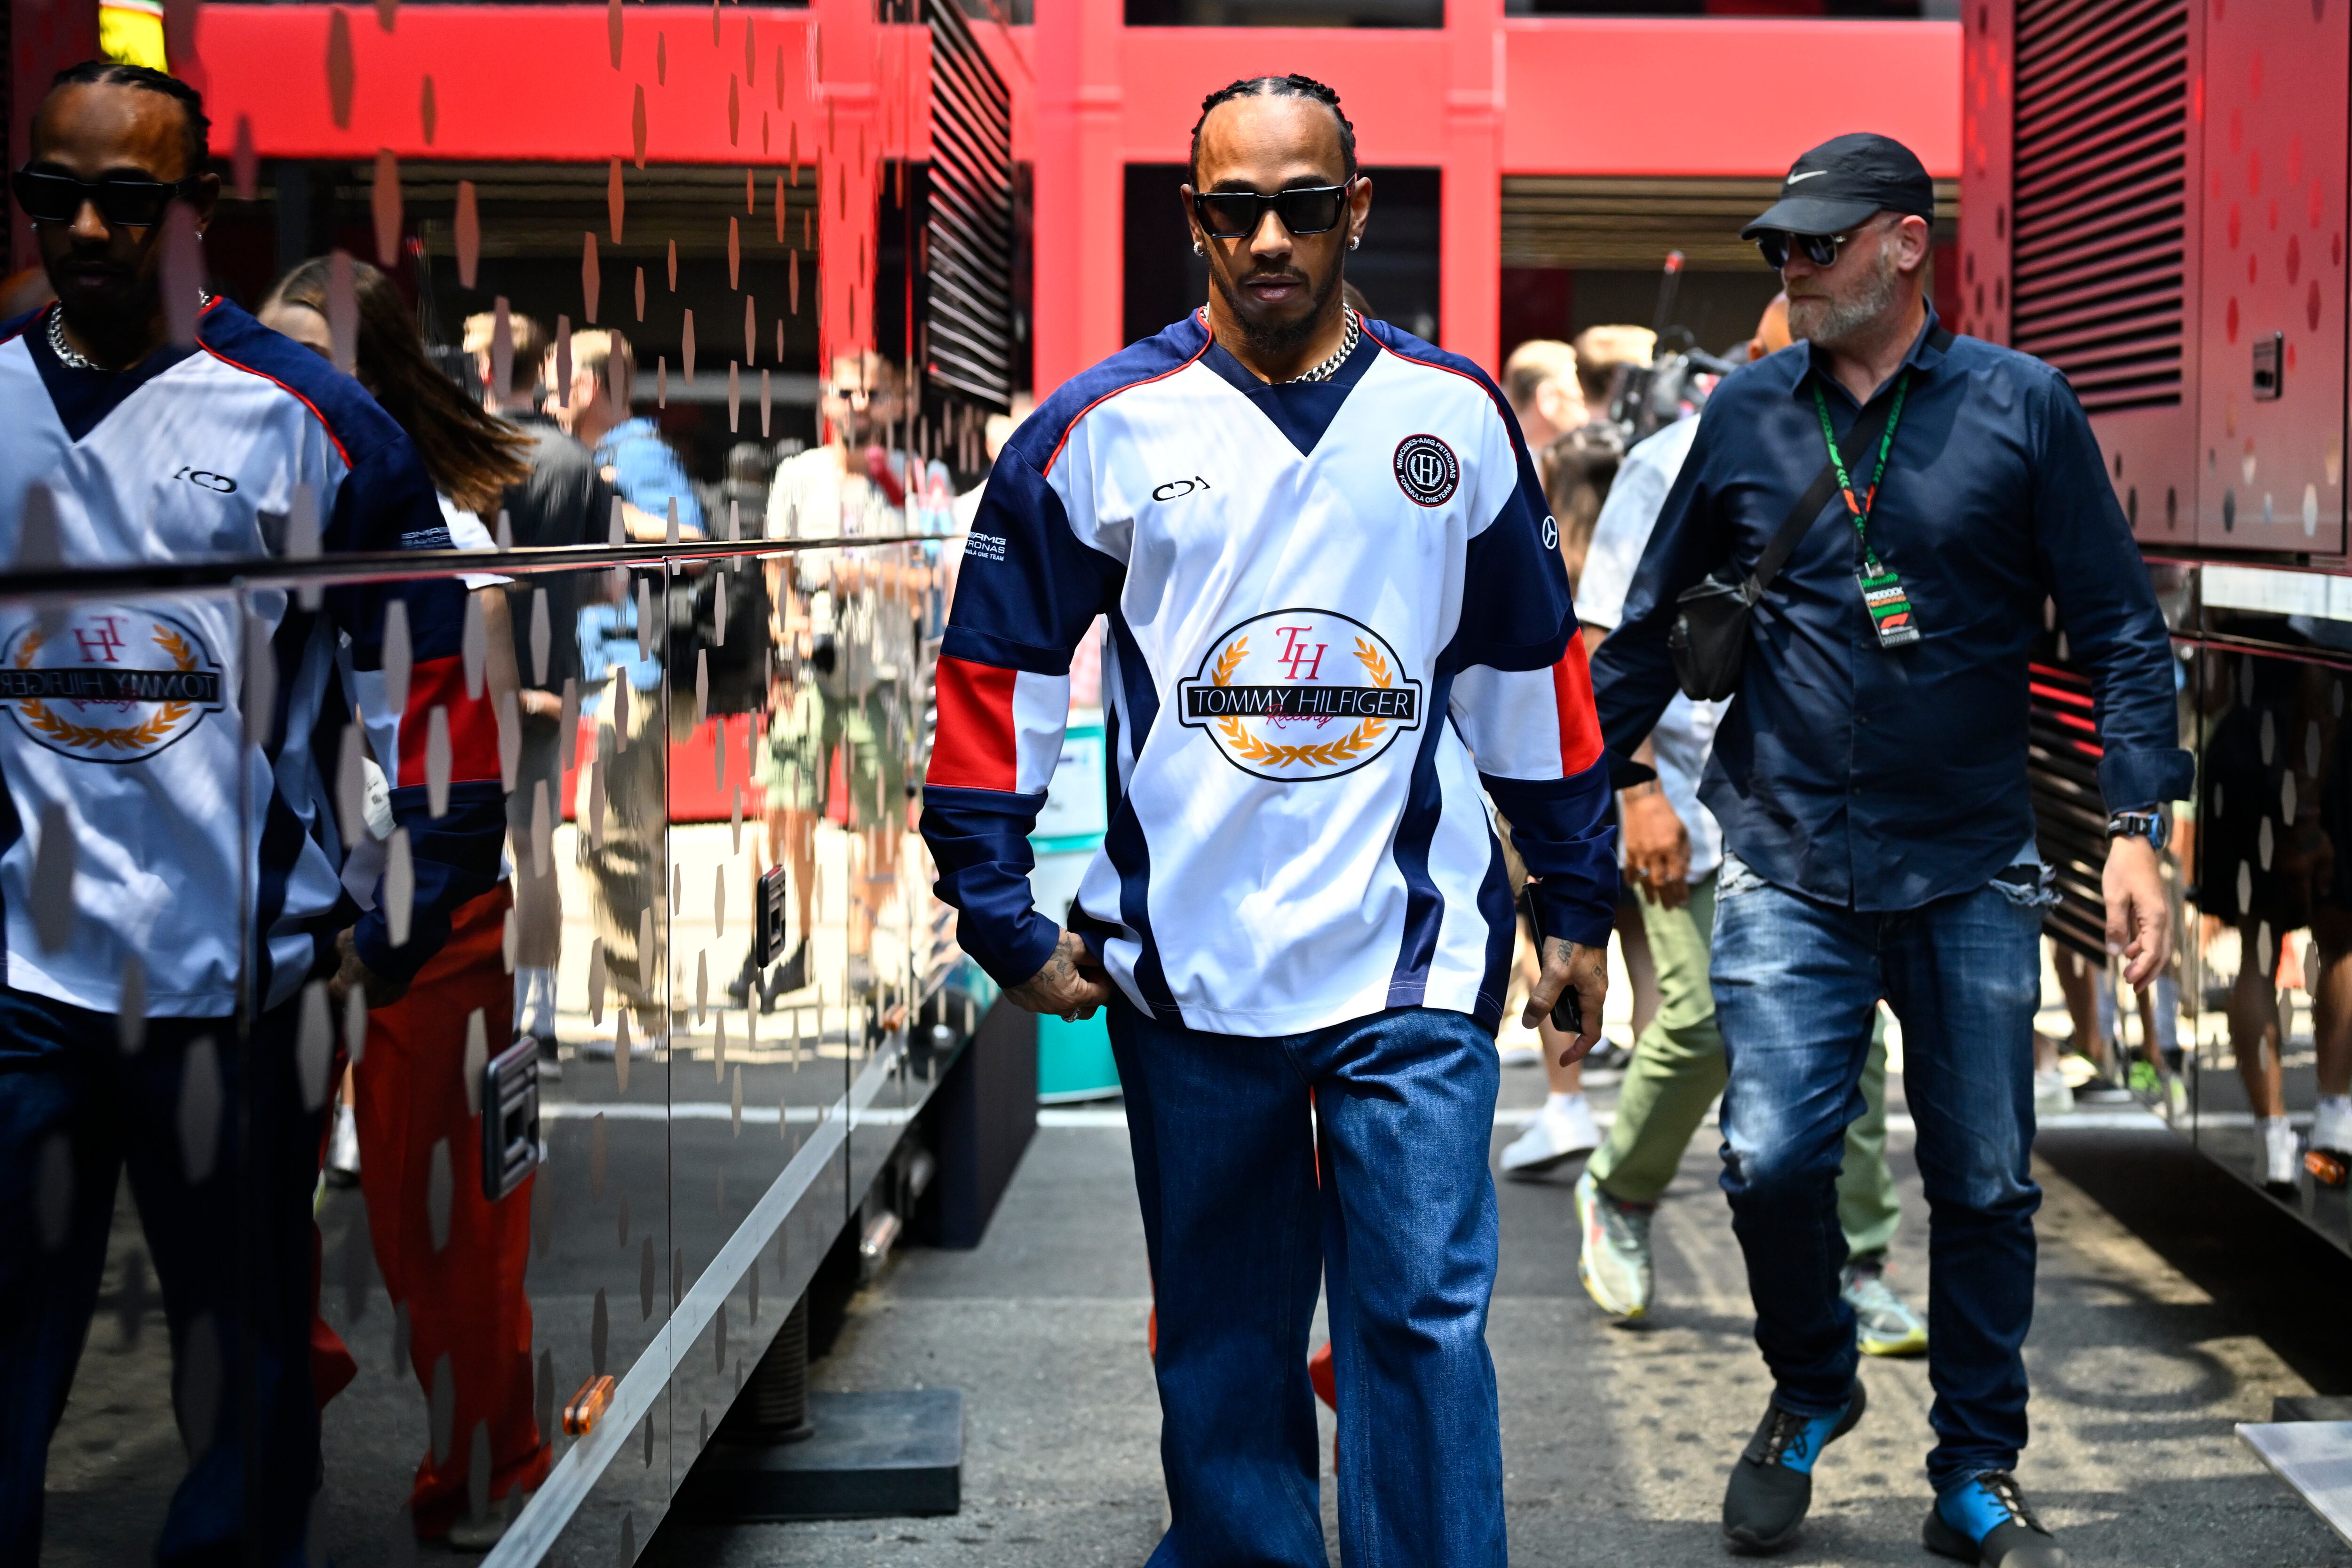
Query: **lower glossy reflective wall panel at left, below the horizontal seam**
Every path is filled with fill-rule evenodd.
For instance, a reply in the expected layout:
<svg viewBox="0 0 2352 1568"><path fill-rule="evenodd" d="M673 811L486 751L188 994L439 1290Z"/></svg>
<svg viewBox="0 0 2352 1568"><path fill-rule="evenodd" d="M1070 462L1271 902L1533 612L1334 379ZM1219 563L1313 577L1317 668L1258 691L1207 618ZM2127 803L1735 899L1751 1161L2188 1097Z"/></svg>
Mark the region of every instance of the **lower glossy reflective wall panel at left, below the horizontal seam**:
<svg viewBox="0 0 2352 1568"><path fill-rule="evenodd" d="M54 1561L616 1556L757 1425L978 1020L915 835L929 550L0 602L0 1006L56 1056L16 1244L106 1316ZM193 1509L252 1446L320 1486Z"/></svg>

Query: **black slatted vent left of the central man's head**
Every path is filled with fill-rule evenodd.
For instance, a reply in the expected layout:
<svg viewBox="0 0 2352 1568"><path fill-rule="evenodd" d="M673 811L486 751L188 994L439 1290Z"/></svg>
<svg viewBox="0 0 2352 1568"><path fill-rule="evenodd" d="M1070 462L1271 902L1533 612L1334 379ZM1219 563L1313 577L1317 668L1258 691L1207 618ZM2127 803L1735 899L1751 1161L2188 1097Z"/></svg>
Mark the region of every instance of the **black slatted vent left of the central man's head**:
<svg viewBox="0 0 2352 1568"><path fill-rule="evenodd" d="M924 270L934 386L995 409L1014 395L1014 101L955 0L931 0L931 221Z"/></svg>

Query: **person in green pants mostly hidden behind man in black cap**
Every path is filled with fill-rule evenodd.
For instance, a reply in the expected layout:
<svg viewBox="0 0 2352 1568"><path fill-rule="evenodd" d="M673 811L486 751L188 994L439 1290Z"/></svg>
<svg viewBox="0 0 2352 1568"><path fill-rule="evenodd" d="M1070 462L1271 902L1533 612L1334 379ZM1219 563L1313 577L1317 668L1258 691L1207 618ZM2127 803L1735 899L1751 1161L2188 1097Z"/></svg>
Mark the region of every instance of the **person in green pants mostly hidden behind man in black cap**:
<svg viewBox="0 0 2352 1568"><path fill-rule="evenodd" d="M1764 310L1750 355L1788 343L1788 306ZM1618 621L1632 571L1698 433L1684 418L1625 454L1602 508L1576 592L1588 642ZM1625 879L1642 893L1642 926L1658 966L1658 1013L1642 1030L1618 1091L1616 1126L1576 1182L1583 1251L1578 1279L1613 1316L1649 1312L1653 1274L1649 1222L1682 1152L1724 1091L1724 1037L1715 1027L1708 985L1708 938L1715 929L1715 884L1724 860L1722 832L1698 804L1698 776L1715 745L1715 722L1726 703L1677 696L1639 755L1658 778L1618 792ZM1886 1027L1877 1025L1863 1070L1865 1112L1846 1128L1837 1175L1837 1222L1846 1234L1844 1293L1853 1305L1860 1349L1912 1356L1926 1349L1926 1324L1886 1284L1886 1248L1903 1218L1886 1171Z"/></svg>

